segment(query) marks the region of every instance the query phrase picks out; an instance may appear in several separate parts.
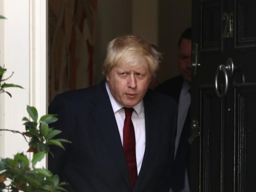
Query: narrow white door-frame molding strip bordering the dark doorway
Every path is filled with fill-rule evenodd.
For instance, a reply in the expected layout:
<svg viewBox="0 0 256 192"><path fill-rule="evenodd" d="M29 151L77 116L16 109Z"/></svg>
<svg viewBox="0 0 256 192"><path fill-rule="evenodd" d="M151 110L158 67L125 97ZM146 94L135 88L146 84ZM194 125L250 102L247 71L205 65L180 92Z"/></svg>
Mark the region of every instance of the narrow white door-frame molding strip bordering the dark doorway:
<svg viewBox="0 0 256 192"><path fill-rule="evenodd" d="M34 4L34 46L33 52L35 52L35 62L33 63L33 79L32 79L32 104L38 110L38 116L45 115L47 113L48 106L48 74L47 74L47 46L46 46L46 37L47 37L47 1L46 0L30 0ZM46 159L43 159L37 166L46 167Z"/></svg>

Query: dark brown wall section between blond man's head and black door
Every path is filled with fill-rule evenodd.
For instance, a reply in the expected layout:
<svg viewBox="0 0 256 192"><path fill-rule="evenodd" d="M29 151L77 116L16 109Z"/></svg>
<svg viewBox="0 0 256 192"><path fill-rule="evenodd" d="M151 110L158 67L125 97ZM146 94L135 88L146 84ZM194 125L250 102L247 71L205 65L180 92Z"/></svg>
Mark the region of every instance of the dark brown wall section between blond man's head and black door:
<svg viewBox="0 0 256 192"><path fill-rule="evenodd" d="M191 0L158 1L158 46L163 52L160 81L179 74L178 39L191 26Z"/></svg>

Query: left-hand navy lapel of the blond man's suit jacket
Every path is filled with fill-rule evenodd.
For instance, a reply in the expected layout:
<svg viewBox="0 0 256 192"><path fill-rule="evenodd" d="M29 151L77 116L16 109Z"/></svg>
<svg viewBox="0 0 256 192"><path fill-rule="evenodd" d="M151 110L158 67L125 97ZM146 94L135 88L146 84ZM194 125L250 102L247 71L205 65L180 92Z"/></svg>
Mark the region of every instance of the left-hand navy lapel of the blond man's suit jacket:
<svg viewBox="0 0 256 192"><path fill-rule="evenodd" d="M105 87L105 82L100 83L97 89L95 97L91 99L89 111L106 146L117 163L127 187L131 190L128 166L126 164L117 122Z"/></svg>

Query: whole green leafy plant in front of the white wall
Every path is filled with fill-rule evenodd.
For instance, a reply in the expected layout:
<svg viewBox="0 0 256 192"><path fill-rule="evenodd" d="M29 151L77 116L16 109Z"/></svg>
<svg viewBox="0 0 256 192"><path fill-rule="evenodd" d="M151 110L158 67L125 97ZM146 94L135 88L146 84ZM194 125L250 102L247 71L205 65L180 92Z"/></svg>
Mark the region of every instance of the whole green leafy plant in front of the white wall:
<svg viewBox="0 0 256 192"><path fill-rule="evenodd" d="M0 15L0 18L5 18ZM0 66L0 93L11 94L5 89L9 87L19 87L11 83L5 83L3 75L6 72L4 67ZM3 83L4 82L4 83ZM58 175L53 175L45 168L36 168L37 162L41 161L46 153L50 152L50 145L56 145L63 150L65 148L61 142L69 142L65 139L53 139L54 136L61 133L60 130L49 127L48 124L56 122L58 118L54 114L47 114L38 117L37 109L35 107L27 106L27 112L30 118L24 117L25 131L20 132L11 129L0 129L0 131L11 131L18 133L24 137L28 143L28 151L33 153L33 158L30 163L28 157L24 153L17 153L14 158L0 158L0 192L6 190L7 192L59 192L67 191L62 188L66 183L59 183ZM52 154L52 153L51 153ZM52 154L53 155L53 154Z"/></svg>

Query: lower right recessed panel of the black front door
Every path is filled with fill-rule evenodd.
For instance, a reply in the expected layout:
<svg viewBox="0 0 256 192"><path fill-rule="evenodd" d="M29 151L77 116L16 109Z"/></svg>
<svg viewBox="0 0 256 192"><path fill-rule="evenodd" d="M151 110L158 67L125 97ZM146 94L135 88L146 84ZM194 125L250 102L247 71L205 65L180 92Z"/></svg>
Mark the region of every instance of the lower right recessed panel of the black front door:
<svg viewBox="0 0 256 192"><path fill-rule="evenodd" d="M256 189L256 84L238 84L236 97L236 159L239 192Z"/></svg>

